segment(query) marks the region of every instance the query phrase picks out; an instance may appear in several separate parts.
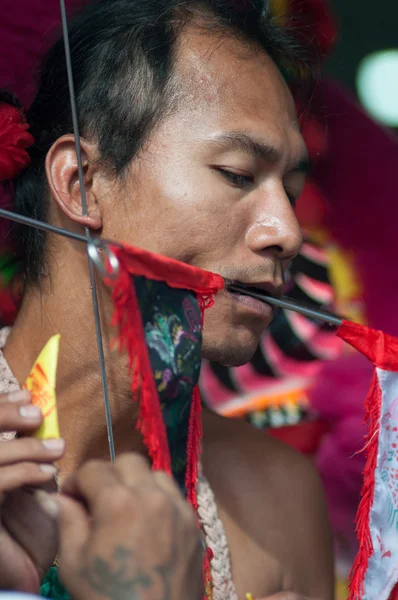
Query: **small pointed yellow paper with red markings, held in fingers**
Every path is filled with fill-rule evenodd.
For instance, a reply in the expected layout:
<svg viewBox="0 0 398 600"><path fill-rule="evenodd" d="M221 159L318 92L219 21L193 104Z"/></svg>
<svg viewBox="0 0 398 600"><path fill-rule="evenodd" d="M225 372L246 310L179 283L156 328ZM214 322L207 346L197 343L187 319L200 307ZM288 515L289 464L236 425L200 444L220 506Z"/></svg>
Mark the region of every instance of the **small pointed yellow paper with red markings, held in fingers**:
<svg viewBox="0 0 398 600"><path fill-rule="evenodd" d="M23 386L32 394L32 404L40 406L43 413L43 424L33 434L39 440L60 437L55 394L60 337L57 334L49 339Z"/></svg>

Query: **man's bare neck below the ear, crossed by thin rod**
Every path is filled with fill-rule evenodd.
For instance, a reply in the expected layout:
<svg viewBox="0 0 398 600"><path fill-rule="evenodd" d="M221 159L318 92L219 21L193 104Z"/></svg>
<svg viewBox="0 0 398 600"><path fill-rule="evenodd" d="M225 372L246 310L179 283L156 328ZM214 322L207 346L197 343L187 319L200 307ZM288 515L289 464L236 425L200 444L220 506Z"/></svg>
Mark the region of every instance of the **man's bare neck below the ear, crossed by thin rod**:
<svg viewBox="0 0 398 600"><path fill-rule="evenodd" d="M99 303L116 453L144 453L136 431L138 408L131 397L127 359L116 348L110 348L116 332L105 325L110 323L112 307L102 284ZM57 406L61 435L67 444L60 468L68 473L89 458L109 458L95 323L85 267L80 274L74 273L73 282L55 276L51 284L44 281L41 289L30 288L26 292L4 350L21 385L42 348L56 333L61 334Z"/></svg>

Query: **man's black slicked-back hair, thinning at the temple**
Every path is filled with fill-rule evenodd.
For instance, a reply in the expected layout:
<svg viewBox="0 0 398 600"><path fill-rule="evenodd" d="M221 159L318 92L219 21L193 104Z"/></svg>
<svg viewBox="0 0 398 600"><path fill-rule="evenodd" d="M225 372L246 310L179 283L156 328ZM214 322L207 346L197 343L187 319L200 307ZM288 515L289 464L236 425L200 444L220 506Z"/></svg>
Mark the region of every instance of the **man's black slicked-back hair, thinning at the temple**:
<svg viewBox="0 0 398 600"><path fill-rule="evenodd" d="M297 72L306 63L305 51L274 24L265 0L90 3L69 24L79 128L82 136L96 141L101 162L118 175L176 104L176 43L192 20L264 49L284 73ZM14 209L45 220L45 157L58 137L73 133L62 38L43 63L27 120L35 144L29 149L31 164L13 182ZM15 238L26 279L38 281L45 258L44 233L19 226Z"/></svg>

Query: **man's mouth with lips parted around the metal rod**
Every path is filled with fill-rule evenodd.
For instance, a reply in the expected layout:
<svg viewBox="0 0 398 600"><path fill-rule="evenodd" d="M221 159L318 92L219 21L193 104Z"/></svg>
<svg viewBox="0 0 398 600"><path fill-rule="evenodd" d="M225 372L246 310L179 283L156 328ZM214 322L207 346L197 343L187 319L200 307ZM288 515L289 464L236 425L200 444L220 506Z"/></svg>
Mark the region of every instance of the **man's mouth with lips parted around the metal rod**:
<svg viewBox="0 0 398 600"><path fill-rule="evenodd" d="M225 290L231 295L235 302L244 306L248 311L258 315L264 320L271 321L274 317L275 307L267 302L267 296L271 298L281 298L283 295L283 286L276 286L271 283L244 283L231 279L225 280ZM249 296L247 291L257 291L261 293L262 299Z"/></svg>

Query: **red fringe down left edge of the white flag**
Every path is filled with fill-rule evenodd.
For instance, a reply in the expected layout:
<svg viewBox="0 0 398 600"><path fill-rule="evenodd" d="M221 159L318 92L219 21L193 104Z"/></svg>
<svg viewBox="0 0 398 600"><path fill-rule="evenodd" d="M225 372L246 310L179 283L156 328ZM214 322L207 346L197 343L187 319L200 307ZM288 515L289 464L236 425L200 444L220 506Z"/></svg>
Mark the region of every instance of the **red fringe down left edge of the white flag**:
<svg viewBox="0 0 398 600"><path fill-rule="evenodd" d="M381 413L381 390L376 371L368 395L365 400L365 421L368 423L368 434L365 444L366 465L363 473L361 501L356 516L356 531L359 550L350 573L350 594L348 600L361 600L364 595L364 580L370 557L374 549L370 534L370 511L374 499L375 470L379 446L379 427Z"/></svg>

